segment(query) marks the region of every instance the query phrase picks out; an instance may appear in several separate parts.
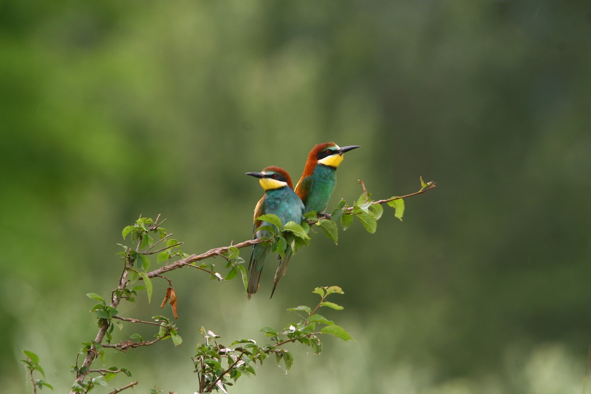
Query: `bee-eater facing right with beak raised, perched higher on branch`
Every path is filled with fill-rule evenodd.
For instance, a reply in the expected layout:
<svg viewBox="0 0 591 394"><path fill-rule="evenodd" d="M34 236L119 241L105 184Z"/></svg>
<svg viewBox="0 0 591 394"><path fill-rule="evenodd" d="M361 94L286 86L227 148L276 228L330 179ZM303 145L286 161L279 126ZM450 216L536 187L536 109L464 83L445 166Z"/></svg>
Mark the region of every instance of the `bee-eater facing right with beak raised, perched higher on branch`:
<svg viewBox="0 0 591 394"><path fill-rule="evenodd" d="M340 148L334 142L326 142L314 146L310 151L304 173L296 185L296 194L306 206L304 213L324 213L335 191L336 168L343 161L343 153L355 148L359 148L359 145Z"/></svg>

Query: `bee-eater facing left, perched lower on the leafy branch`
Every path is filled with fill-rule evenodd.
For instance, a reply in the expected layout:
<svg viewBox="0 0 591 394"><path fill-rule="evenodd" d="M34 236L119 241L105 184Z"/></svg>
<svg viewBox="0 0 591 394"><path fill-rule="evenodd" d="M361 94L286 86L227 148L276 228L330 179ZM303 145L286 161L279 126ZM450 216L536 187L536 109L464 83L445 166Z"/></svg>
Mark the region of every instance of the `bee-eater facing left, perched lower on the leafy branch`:
<svg viewBox="0 0 591 394"><path fill-rule="evenodd" d="M293 191L291 177L287 171L280 167L271 166L264 168L261 172L246 172L246 175L259 178L259 183L263 190L265 190L261 200L259 200L255 206L254 238L271 236L266 230L256 231L260 226L272 226L272 224L268 222L261 222L261 220L256 219L263 214L275 214L281 219L283 224L287 222L301 223L303 219L304 204L301 202L300 197L298 197ZM271 297L273 297L277 284L285 274L287 264L293 253L289 239L291 235L287 234L284 235L284 237L287 240L287 249L285 250L284 258L278 256L279 265L277 266L277 272L275 272L275 284L271 292ZM263 264L270 250L271 246L268 245L268 243L257 243L252 246L251 259L248 264L248 270L250 272L246 290L248 292L248 298L251 298L251 295L256 293L259 289Z"/></svg>

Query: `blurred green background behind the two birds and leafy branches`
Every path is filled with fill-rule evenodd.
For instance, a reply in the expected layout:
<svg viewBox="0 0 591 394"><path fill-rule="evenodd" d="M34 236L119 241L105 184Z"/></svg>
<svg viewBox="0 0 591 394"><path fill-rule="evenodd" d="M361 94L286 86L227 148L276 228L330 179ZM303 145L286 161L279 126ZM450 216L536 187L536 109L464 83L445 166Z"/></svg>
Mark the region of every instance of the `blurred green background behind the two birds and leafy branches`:
<svg viewBox="0 0 591 394"><path fill-rule="evenodd" d="M201 325L264 341L315 286L340 285L345 310L325 314L356 342L296 348L287 376L269 360L230 393L580 393L590 49L588 1L0 3L2 391L31 392L22 349L69 390L96 335L85 294L115 287L139 214L166 217L188 253L248 239L262 190L243 173L297 179L335 141L362 148L329 206L358 197L358 179L379 198L419 175L438 187L407 200L404 222L387 209L375 235L315 235L272 300L273 270L251 301L239 281L170 273L183 344L107 366L137 392L192 393ZM164 289L121 314L161 314Z"/></svg>

